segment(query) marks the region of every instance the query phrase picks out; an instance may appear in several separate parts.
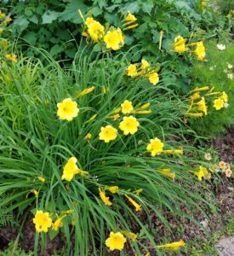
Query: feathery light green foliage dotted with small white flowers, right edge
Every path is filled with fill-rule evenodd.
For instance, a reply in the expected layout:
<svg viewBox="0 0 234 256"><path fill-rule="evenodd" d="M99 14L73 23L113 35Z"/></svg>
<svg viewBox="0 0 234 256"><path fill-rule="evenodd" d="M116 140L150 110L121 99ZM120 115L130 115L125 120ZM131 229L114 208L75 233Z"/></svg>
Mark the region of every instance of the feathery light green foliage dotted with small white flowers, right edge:
<svg viewBox="0 0 234 256"><path fill-rule="evenodd" d="M225 49L220 50L217 44L224 44ZM208 115L196 119L192 127L204 136L213 136L225 131L225 127L234 124L234 45L229 35L222 35L219 40L209 40L206 44L205 62L194 61L191 68L191 81L194 87L210 86L214 91L225 91L228 95L228 107L215 110L213 102L208 108ZM212 97L213 100L217 97Z"/></svg>

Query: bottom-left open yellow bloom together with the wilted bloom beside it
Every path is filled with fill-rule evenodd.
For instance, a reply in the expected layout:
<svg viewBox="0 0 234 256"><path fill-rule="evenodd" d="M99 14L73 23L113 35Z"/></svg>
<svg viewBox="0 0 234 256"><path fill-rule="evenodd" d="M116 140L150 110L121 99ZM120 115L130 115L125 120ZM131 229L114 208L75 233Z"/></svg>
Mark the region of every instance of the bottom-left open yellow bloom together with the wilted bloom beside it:
<svg viewBox="0 0 234 256"><path fill-rule="evenodd" d="M54 231L58 231L60 227L62 227L62 219L66 218L67 214L73 212L72 210L66 211L61 216L58 216L54 222L49 214L49 212L37 211L35 217L32 219L33 224L35 224L35 228L37 232L45 232L47 233L49 228L52 228Z"/></svg>

